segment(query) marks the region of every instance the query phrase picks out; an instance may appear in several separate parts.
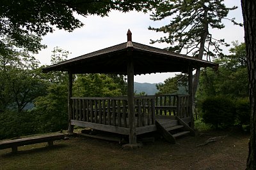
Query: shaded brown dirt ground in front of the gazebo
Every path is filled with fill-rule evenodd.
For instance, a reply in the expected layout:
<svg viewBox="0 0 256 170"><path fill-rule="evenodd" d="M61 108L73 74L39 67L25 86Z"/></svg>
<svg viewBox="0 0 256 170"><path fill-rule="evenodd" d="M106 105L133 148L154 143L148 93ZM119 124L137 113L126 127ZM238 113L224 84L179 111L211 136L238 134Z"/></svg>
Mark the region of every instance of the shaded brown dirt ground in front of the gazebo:
<svg viewBox="0 0 256 170"><path fill-rule="evenodd" d="M216 136L225 137L196 147ZM184 136L175 145L157 139L138 150L122 150L118 143L80 136L56 141L52 147L20 146L17 154L0 150L0 169L245 169L249 137L211 131Z"/></svg>

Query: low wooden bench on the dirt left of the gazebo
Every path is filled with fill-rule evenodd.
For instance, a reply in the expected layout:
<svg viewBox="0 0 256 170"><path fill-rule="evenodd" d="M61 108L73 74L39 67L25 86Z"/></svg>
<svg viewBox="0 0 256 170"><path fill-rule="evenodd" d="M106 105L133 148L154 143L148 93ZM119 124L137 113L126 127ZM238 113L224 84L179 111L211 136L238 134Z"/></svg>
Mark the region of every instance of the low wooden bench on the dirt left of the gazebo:
<svg viewBox="0 0 256 170"><path fill-rule="evenodd" d="M13 153L17 153L18 146L24 145L31 145L35 143L44 143L47 142L49 146L53 145L53 141L64 139L65 135L58 133L58 134L47 134L42 136L33 136L28 138L21 138L21 139L13 139L13 140L4 140L0 141L0 150L6 148L12 148Z"/></svg>

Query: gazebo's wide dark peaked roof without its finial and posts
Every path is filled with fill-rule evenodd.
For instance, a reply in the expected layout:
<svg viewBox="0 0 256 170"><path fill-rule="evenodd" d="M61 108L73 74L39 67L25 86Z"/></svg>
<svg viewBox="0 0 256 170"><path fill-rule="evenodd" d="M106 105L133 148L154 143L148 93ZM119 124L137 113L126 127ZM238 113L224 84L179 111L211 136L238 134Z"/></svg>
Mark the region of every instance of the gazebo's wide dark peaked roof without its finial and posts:
<svg viewBox="0 0 256 170"><path fill-rule="evenodd" d="M134 61L134 74L187 72L188 67L218 67L218 64L195 59L187 55L168 52L152 46L132 42L133 48L127 48L127 43L111 46L97 52L88 53L54 64L43 69L49 71L70 71L79 73L115 73L127 74L127 60ZM132 48L131 55L128 49Z"/></svg>

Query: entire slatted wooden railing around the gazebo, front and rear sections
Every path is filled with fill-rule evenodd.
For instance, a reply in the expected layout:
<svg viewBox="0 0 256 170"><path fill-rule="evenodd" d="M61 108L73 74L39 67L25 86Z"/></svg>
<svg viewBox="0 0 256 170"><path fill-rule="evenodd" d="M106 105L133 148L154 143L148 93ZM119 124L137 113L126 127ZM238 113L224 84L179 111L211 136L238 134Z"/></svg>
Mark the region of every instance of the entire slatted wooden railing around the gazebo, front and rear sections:
<svg viewBox="0 0 256 170"><path fill-rule="evenodd" d="M72 120L129 127L127 97L71 97ZM191 117L189 95L134 97L135 126L155 124L155 115Z"/></svg>

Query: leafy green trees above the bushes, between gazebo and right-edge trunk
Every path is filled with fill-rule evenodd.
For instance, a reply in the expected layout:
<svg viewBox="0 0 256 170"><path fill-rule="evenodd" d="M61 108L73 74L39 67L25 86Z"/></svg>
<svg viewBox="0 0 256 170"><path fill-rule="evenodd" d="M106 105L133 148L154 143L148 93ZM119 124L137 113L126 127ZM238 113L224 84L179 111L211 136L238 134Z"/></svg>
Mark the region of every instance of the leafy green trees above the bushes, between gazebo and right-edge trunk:
<svg viewBox="0 0 256 170"><path fill-rule="evenodd" d="M200 76L198 100L202 101L208 96L225 95L233 99L248 97L248 73L246 68L246 55L244 43L233 43L230 48L232 55L225 55L214 60L220 67L217 72L205 69Z"/></svg>

